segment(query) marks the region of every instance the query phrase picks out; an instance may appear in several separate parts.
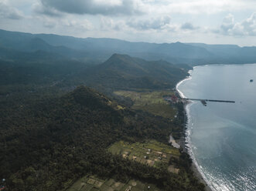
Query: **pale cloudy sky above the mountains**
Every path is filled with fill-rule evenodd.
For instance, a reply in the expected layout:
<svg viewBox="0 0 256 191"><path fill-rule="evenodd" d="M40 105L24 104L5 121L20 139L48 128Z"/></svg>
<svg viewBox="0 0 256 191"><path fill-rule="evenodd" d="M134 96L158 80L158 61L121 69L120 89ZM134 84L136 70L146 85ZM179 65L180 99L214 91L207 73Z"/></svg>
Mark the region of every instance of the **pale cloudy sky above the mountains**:
<svg viewBox="0 0 256 191"><path fill-rule="evenodd" d="M0 28L251 46L256 45L256 0L0 0Z"/></svg>

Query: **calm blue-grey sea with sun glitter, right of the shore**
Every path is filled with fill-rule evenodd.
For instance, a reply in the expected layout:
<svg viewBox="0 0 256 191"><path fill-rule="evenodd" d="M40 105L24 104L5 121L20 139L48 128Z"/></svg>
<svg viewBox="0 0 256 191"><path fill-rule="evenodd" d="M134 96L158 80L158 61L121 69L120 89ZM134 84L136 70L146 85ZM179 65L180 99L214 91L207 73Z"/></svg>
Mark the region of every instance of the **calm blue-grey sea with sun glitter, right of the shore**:
<svg viewBox="0 0 256 191"><path fill-rule="evenodd" d="M256 64L198 66L177 89L187 98L235 101L189 104L187 141L213 190L256 190Z"/></svg>

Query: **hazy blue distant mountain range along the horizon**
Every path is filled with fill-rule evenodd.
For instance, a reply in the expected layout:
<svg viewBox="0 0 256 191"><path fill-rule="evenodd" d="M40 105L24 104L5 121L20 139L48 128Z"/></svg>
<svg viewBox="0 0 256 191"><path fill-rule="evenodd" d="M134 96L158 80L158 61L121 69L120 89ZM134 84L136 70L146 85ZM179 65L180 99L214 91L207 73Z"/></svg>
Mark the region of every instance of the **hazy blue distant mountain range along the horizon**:
<svg viewBox="0 0 256 191"><path fill-rule="evenodd" d="M0 59L3 49L18 52L44 52L46 58L56 57L103 62L114 53L147 60L166 60L174 64L244 64L256 62L256 47L237 45L206 45L200 43L127 42L118 39L74 38L0 30ZM42 56L42 55L41 55ZM5 58L6 59L6 58Z"/></svg>

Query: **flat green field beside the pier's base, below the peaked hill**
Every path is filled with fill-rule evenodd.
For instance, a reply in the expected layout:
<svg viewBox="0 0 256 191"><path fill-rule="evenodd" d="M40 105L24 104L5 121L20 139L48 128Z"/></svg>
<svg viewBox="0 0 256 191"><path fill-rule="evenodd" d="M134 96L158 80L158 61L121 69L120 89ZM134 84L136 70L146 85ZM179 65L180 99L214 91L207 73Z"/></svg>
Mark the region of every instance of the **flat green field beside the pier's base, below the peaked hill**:
<svg viewBox="0 0 256 191"><path fill-rule="evenodd" d="M141 109L152 113L155 116L162 116L169 119L174 119L176 116L176 108L170 106L169 102L163 99L163 95L173 95L174 92L132 92L132 91L117 91L116 95L121 95L131 98L134 105L132 109Z"/></svg>

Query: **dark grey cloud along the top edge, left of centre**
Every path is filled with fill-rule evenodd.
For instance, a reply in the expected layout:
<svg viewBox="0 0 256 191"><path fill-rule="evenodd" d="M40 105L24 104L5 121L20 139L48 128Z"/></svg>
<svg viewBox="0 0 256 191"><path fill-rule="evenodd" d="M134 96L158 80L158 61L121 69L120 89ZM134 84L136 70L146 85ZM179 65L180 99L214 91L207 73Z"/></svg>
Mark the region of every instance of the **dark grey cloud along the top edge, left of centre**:
<svg viewBox="0 0 256 191"><path fill-rule="evenodd" d="M41 0L44 8L88 15L134 15L142 13L135 0ZM47 14L47 12L45 12Z"/></svg>

